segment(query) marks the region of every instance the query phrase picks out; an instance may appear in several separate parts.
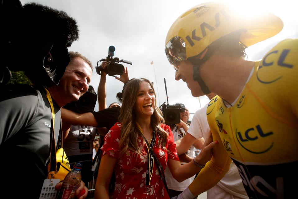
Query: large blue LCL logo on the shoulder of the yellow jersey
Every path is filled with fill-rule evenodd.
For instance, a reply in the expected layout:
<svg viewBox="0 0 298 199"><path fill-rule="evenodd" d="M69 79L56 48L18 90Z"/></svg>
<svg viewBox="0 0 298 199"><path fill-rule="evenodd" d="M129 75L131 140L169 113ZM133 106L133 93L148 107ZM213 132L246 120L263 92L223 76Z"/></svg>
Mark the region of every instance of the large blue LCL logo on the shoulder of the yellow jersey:
<svg viewBox="0 0 298 199"><path fill-rule="evenodd" d="M274 50L270 53L268 53L262 60L261 65L258 67L256 75L259 82L263 84L271 84L275 81L278 81L282 78L282 75L278 73L268 73L268 71L265 69L269 66L273 67L286 67L286 68L293 68L294 65L287 63L286 58L288 53L290 52L289 49L283 49L281 50ZM277 54L279 54L279 57L277 59ZM270 67L271 68L271 67Z"/></svg>

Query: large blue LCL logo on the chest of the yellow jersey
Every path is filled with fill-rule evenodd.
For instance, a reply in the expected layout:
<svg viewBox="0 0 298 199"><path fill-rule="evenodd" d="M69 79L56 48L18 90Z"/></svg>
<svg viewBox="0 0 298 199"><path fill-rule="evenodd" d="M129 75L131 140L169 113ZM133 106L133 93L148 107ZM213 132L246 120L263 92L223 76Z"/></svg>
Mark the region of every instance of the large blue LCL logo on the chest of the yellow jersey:
<svg viewBox="0 0 298 199"><path fill-rule="evenodd" d="M239 144L247 151L254 153L254 154L261 154L265 153L268 150L270 150L274 144L274 142L266 143L263 145L260 145L259 143L256 143L255 145L252 145L252 142L257 142L259 139L266 138L268 136L272 136L273 132L264 132L260 125L256 125L255 127L247 129L244 133L237 131L236 129L236 138ZM249 147L248 147L249 146ZM258 150L256 150L256 148Z"/></svg>

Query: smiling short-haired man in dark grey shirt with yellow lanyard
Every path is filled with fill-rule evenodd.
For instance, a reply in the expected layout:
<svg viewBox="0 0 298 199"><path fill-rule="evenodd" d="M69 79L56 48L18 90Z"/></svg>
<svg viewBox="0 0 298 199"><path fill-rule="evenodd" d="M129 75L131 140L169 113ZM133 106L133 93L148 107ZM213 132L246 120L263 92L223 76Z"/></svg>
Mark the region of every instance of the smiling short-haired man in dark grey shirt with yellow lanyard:
<svg viewBox="0 0 298 199"><path fill-rule="evenodd" d="M44 179L48 175L46 165L51 148L50 141L53 140L52 130L55 145L58 144L61 131L60 109L66 103L79 99L88 90L92 76L92 65L88 59L73 52L70 52L70 57L71 62L67 65L59 85L48 86L47 90L40 85L7 85L5 95L0 100L3 114L0 122L1 156L9 162L13 162L16 154L18 156L18 164L5 168L9 177L4 175L3 178L9 187L14 184L25 188L21 185L21 180L15 179L21 175L22 170L28 172L30 176L26 183L34 187L34 191L30 192L32 198L39 197ZM54 109L55 123L52 122L51 106ZM23 163L22 169L19 168L20 162ZM80 187L78 192L83 187Z"/></svg>

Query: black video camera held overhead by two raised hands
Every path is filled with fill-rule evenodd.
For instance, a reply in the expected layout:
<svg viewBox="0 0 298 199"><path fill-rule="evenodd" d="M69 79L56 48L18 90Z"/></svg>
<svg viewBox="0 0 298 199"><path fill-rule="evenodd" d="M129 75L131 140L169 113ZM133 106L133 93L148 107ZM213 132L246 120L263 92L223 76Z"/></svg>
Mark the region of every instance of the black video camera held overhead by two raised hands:
<svg viewBox="0 0 298 199"><path fill-rule="evenodd" d="M97 66L95 67L97 74L100 75L101 74L100 71L104 71L109 76L116 77L116 75L122 75L124 72L124 66L122 64L119 64L119 62L123 62L123 63L132 65L132 62L130 62L130 61L127 61L124 59L119 60L119 58L117 58L117 57L113 58L114 52L115 52L115 47L110 46L107 58L101 59L98 61L98 62L103 62L103 61L110 62L105 69L103 69L101 67L101 65L98 65L98 62L97 62Z"/></svg>

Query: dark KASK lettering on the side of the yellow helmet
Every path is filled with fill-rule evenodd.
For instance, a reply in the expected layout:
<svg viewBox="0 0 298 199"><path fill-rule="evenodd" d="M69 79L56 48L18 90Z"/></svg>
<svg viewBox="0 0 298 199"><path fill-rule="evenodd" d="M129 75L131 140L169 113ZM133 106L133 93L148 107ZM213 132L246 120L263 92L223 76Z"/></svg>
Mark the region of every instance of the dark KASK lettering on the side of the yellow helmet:
<svg viewBox="0 0 298 199"><path fill-rule="evenodd" d="M224 16L227 20L230 19L230 16L229 16L229 15L227 14L227 12L225 12L224 10L221 10L220 13L221 13L221 15ZM213 31L213 30L215 30L216 28L218 28L218 26L220 25L220 20L219 20L220 13L216 13L215 16L214 16L214 18L215 18L215 27L213 27L212 25L209 25L209 24L206 23L206 22L201 23L200 28L201 28L202 37L199 37L199 36L196 35L196 33L195 33L196 29L193 30L193 31L191 32L191 38L190 38L189 35L187 35L187 36L185 37L186 40L189 42L189 44L190 44L191 46L194 46L194 45L195 45L195 43L194 43L193 40L199 41L199 40L201 40L203 37L205 37L205 36L207 35L207 34L206 34L206 29L205 29L205 28L209 29L210 31Z"/></svg>

